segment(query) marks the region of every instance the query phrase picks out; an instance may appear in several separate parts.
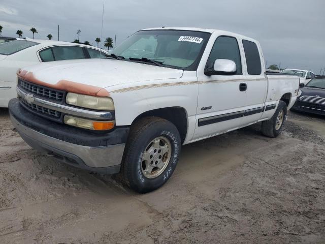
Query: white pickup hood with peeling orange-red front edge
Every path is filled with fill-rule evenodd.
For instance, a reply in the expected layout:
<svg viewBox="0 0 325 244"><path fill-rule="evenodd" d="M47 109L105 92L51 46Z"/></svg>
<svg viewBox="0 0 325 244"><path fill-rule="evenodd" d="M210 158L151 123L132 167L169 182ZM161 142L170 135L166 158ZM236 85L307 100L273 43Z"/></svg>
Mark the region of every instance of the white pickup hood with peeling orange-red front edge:
<svg viewBox="0 0 325 244"><path fill-rule="evenodd" d="M95 58L41 63L21 69L18 75L44 86L98 95L99 90L114 85L181 78L183 71L124 60ZM79 88L69 89L72 86Z"/></svg>

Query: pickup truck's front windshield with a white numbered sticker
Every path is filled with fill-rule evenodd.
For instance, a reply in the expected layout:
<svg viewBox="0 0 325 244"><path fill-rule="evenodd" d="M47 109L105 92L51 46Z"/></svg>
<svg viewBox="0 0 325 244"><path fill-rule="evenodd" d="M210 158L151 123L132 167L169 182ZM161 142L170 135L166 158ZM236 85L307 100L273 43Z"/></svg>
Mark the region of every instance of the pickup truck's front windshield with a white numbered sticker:
<svg viewBox="0 0 325 244"><path fill-rule="evenodd" d="M150 59L165 67L196 70L210 35L194 31L140 31L127 38L112 53L124 57L126 61L135 62L134 59L137 59L152 64L146 60Z"/></svg>

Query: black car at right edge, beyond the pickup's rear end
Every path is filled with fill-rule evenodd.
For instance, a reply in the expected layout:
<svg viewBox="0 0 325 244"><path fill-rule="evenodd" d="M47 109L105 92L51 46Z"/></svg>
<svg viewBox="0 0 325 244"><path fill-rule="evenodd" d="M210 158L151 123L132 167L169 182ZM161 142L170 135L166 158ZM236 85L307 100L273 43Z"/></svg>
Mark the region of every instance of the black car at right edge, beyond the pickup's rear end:
<svg viewBox="0 0 325 244"><path fill-rule="evenodd" d="M301 88L291 110L325 115L325 78L313 78Z"/></svg>

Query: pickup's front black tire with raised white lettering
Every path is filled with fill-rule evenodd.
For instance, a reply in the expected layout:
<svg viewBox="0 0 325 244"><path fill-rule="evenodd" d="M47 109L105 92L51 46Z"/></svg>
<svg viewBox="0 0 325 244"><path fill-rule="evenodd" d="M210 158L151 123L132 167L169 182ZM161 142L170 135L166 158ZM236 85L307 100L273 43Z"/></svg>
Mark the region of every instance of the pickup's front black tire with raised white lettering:
<svg viewBox="0 0 325 244"><path fill-rule="evenodd" d="M165 170L155 178L148 178L142 172L142 156L147 145L157 137L163 137L171 145L171 156ZM151 192L163 186L173 174L181 148L177 128L169 120L159 117L144 117L132 125L124 149L120 178L132 190L139 193Z"/></svg>

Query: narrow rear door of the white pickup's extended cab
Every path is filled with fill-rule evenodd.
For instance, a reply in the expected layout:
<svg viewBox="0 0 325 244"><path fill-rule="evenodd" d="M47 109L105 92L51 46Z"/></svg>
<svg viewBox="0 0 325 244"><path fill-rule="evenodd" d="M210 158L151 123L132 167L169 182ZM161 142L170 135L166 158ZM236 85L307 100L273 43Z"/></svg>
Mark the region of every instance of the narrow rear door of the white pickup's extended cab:
<svg viewBox="0 0 325 244"><path fill-rule="evenodd" d="M256 122L262 117L267 95L268 80L262 67L262 52L253 40L242 40L246 67L247 100L242 125Z"/></svg>

